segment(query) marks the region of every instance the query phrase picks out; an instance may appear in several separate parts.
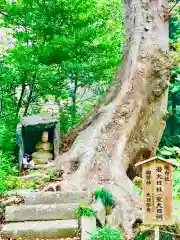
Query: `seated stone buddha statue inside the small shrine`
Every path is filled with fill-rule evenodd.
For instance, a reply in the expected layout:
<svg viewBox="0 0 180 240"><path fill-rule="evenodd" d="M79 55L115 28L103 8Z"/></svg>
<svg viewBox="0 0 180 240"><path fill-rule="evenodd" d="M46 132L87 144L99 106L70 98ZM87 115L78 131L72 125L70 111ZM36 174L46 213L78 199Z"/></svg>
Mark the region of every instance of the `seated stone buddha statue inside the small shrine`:
<svg viewBox="0 0 180 240"><path fill-rule="evenodd" d="M36 152L32 154L32 160L35 164L48 163L53 159L52 143L48 142L48 132L43 132L41 142L36 145Z"/></svg>

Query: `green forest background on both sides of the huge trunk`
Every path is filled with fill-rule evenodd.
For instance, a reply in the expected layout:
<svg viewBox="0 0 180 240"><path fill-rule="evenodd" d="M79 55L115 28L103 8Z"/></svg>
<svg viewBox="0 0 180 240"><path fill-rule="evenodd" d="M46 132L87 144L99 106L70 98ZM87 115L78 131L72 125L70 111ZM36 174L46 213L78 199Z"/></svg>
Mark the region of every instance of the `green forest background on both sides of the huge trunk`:
<svg viewBox="0 0 180 240"><path fill-rule="evenodd" d="M119 0L98 4L95 0L61 0L61 4L57 0L21 0L18 4L0 0L0 6L0 27L8 29L0 49L0 192L4 192L20 184L14 181L20 118L41 112L45 103L55 103L62 136L66 134L113 84L126 40ZM178 6L172 13L169 115L157 154L180 161ZM174 197L180 198L178 169L174 176Z"/></svg>

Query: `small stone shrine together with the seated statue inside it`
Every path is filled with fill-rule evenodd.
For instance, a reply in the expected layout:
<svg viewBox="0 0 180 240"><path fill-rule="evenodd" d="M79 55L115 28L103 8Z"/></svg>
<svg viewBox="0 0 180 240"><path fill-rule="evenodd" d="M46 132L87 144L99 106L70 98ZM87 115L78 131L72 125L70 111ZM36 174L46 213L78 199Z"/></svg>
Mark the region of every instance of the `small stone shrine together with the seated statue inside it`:
<svg viewBox="0 0 180 240"><path fill-rule="evenodd" d="M57 117L47 113L22 118L17 126L16 154L22 171L25 154L35 166L46 164L59 155L60 124Z"/></svg>

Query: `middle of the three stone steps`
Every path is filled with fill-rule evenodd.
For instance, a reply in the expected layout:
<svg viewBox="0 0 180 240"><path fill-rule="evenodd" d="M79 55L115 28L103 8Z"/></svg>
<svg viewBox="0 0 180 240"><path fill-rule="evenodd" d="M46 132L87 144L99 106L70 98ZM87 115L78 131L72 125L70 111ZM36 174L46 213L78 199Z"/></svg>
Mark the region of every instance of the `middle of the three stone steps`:
<svg viewBox="0 0 180 240"><path fill-rule="evenodd" d="M75 219L78 204L38 204L7 206L6 222Z"/></svg>

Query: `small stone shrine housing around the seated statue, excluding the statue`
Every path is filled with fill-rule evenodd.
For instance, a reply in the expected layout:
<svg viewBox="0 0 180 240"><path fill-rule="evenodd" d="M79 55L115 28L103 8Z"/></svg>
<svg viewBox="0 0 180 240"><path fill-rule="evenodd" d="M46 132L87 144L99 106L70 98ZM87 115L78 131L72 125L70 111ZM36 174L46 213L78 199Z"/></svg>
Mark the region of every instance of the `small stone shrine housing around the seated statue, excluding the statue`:
<svg viewBox="0 0 180 240"><path fill-rule="evenodd" d="M60 123L57 117L47 113L24 117L16 130L16 153L19 169L22 170L24 154L36 151L36 144L40 141L43 132L48 133L48 141L52 144L53 159L59 155Z"/></svg>

